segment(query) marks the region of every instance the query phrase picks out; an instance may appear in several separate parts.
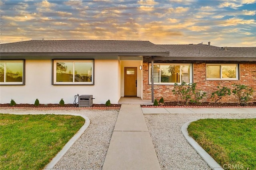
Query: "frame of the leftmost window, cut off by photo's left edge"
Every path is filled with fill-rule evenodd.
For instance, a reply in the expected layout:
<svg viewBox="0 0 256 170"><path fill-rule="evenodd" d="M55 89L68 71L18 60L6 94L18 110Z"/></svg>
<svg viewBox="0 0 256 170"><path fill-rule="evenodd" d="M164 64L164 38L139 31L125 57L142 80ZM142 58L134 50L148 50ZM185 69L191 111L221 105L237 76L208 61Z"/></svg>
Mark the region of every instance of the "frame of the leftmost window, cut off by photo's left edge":
<svg viewBox="0 0 256 170"><path fill-rule="evenodd" d="M22 82L0 82L0 86L5 85L18 85L24 86L25 85L25 60L0 60L0 63L4 63L4 80L6 81L6 63L22 63Z"/></svg>

